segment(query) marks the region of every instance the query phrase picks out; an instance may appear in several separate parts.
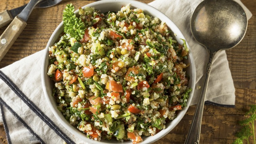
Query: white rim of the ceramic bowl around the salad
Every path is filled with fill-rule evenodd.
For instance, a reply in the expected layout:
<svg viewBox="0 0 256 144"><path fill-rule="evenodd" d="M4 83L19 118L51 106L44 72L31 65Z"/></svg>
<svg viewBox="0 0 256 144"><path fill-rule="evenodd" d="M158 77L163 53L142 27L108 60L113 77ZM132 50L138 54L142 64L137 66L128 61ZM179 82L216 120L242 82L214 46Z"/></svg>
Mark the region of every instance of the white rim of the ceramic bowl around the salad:
<svg viewBox="0 0 256 144"><path fill-rule="evenodd" d="M100 5L100 4L106 4L106 3L115 3L115 2L123 2L123 3L127 3L127 4L131 4L133 5L133 7L147 7L147 8L150 8L151 11L154 12L154 15L157 15L157 14L160 14L162 17L164 17L164 22L167 24L167 26L169 27L169 29L173 30L175 29L175 33L179 33L177 35L179 35L179 37L185 39L184 35L182 34L182 32L180 31L180 29L165 15L163 14L161 11L159 11L158 9L146 4L146 3L142 3L142 2L139 2L139 1L135 1L135 0L102 0L102 1L96 1L96 2L93 2L93 3L90 3L90 4L87 4L85 6L83 6L82 8L85 8L85 7L95 7L95 5ZM135 6L134 6L135 5ZM143 9L142 9L143 10ZM144 11L144 10L143 10ZM153 12L147 12L149 13L150 15L152 15ZM75 11L75 13L77 14L78 13L78 9ZM156 16L159 18L159 16ZM163 20L161 20L163 21ZM172 26L170 28L170 25ZM65 129L67 129L71 134L75 135L76 137L78 137L79 139L85 141L85 142L89 142L89 143L92 143L92 144L97 144L97 143L101 143L101 144L109 144L111 143L111 141L108 143L108 142L104 142L104 141L95 141L95 140L92 140L92 139L89 139L85 136L85 134L83 134L82 132L80 132L77 128L74 128L65 118L64 116L62 115L62 113L57 109L57 107L54 107L54 104L52 102L52 100L50 99L51 95L49 96L47 94L47 89L46 89L46 81L47 79L49 79L49 77L47 76L47 71L48 71L48 63L49 63L49 47L51 46L51 43L53 42L53 40L56 38L56 34L58 33L58 31L63 31L63 21L58 25L58 27L54 30L54 32L52 33L49 41L47 42L47 45L46 45L46 48L44 49L44 56L43 56L43 61L42 61L42 74L41 74L41 81L42 81L42 88L43 88L43 93L44 93L44 96L45 96L45 99L48 103L48 106L50 107L51 111L53 112L54 116L57 118L58 122L60 122L63 127ZM58 35L59 37L59 35ZM177 39L176 36L173 36L173 38L175 40L177 40L179 43L181 43L182 40L180 39ZM186 40L186 39L185 39ZM187 40L186 40L187 41ZM55 43L55 41L54 41ZM167 124L170 124L170 123L175 123L174 125L169 125L169 127L166 127L165 129L161 130L159 133L157 133L156 135L154 136L149 136L148 138L146 138L146 140L143 139L143 142L140 142L139 144L146 144L146 143L152 143L152 142L155 142L157 140L159 140L160 138L164 137L165 135L167 135L174 127L177 126L177 124L181 121L181 119L184 117L185 113L187 112L188 108L189 108L189 105L191 103L191 100L193 98L193 93L194 93L194 89L195 89L195 82L196 82L196 69L195 69L195 62L194 62L194 59L193 59L193 55L192 55L192 52L191 52L191 49L189 47L189 44L187 43L187 47L189 49L189 62L190 62L190 66L191 66L191 74L190 77L193 78L193 79L190 79L189 80L189 83L191 83L191 88L192 88L192 91L189 93L189 98L188 98L188 101L187 101L187 107L184 107L184 109L179 112L177 114L177 117L174 118L172 121L168 122ZM46 65L47 64L47 65ZM52 93L52 92L51 92ZM56 103L56 102L55 102ZM170 127L171 126L171 127ZM128 141L128 142L123 142L123 143L132 143L131 141Z"/></svg>

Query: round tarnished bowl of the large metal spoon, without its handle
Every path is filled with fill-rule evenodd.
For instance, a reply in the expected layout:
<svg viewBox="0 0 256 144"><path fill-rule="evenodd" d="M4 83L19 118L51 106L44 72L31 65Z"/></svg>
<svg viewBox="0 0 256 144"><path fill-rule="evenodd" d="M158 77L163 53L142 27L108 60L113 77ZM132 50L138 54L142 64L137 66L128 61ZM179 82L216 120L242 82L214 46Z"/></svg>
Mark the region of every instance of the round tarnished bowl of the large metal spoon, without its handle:
<svg viewBox="0 0 256 144"><path fill-rule="evenodd" d="M244 37L247 16L232 0L204 0L191 17L194 38L212 51L232 48Z"/></svg>

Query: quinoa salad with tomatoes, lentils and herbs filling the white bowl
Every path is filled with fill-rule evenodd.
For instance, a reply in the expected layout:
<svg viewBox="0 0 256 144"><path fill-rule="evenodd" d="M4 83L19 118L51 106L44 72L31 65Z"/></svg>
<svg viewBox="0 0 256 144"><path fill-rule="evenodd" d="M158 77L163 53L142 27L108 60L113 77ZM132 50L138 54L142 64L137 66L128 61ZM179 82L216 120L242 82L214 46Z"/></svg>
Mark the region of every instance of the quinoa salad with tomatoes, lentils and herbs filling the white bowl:
<svg viewBox="0 0 256 144"><path fill-rule="evenodd" d="M186 41L142 9L63 11L64 33L49 47L57 108L94 140L139 143L165 129L186 106Z"/></svg>

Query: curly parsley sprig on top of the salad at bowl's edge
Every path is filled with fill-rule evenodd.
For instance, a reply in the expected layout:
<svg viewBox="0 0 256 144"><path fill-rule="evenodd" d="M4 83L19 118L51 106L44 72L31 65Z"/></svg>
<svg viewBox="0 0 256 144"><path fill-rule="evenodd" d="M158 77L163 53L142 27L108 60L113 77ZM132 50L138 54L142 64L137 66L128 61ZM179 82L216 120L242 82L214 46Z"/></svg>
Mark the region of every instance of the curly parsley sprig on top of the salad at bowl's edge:
<svg viewBox="0 0 256 144"><path fill-rule="evenodd" d="M85 24L76 17L74 11L72 4L67 4L63 11L64 32L76 40L81 40L85 34Z"/></svg>

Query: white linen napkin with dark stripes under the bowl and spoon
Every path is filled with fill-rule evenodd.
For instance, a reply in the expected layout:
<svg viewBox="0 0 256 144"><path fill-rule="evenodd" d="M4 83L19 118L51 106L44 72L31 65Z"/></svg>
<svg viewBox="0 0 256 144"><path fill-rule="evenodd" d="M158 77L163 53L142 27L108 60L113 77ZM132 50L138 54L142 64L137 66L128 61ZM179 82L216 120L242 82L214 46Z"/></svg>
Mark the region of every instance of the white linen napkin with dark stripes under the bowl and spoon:
<svg viewBox="0 0 256 144"><path fill-rule="evenodd" d="M181 30L196 64L196 87L201 86L206 67L206 51L190 32L190 17L202 0L156 0L149 5L165 13ZM248 19L251 12L246 10ZM68 132L47 107L41 84L41 64L45 50L34 53L0 71L0 110L8 143L86 143ZM195 89L191 105L201 89ZM205 103L233 107L235 88L225 51L213 60Z"/></svg>

